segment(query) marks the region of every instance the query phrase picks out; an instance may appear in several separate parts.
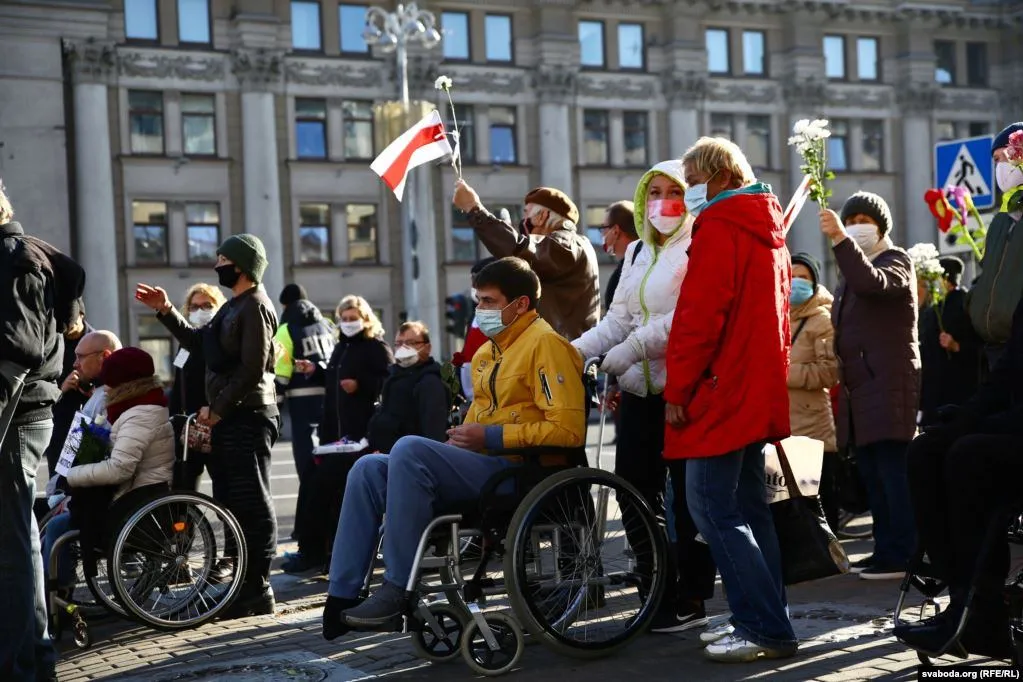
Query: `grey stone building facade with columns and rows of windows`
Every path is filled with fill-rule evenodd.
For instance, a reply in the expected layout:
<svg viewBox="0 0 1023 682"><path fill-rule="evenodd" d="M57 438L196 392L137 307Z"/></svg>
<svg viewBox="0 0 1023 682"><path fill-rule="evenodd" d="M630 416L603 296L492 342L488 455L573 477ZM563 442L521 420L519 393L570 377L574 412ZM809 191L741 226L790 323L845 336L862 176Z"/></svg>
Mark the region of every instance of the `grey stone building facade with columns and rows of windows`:
<svg viewBox="0 0 1023 682"><path fill-rule="evenodd" d="M801 177L789 131L814 117L832 121L836 203L876 191L892 206L897 242L935 241L923 202L933 144L1023 119L1020 2L420 8L444 40L412 49L412 97L450 119L433 83L453 80L466 180L516 220L532 187L566 190L598 253L604 208L700 135L736 140L786 199ZM397 75L394 56L363 41L365 13L345 0L0 4L0 177L27 228L85 266L93 324L143 345L169 372L173 345L134 302L135 283L177 301L215 281L221 239L248 231L270 254L271 297L297 281L331 311L358 293L396 327L400 211L369 163L388 142L374 106L397 97ZM416 173L429 182L413 218L437 237L426 271L442 297L464 291L485 254L451 208L453 171ZM827 262L812 213L791 245ZM605 275L612 268L604 261Z"/></svg>

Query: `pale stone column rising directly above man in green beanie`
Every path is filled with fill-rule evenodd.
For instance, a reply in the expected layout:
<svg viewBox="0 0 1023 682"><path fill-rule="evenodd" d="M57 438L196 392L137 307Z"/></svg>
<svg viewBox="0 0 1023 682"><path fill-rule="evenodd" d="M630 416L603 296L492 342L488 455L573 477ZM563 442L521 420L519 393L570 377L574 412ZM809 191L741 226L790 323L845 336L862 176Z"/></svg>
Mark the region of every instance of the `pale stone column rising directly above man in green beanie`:
<svg viewBox="0 0 1023 682"><path fill-rule="evenodd" d="M241 172L244 231L263 241L270 265L263 285L271 301L284 286L280 178L274 93L282 84L283 58L266 50L238 50L231 70L241 88Z"/></svg>

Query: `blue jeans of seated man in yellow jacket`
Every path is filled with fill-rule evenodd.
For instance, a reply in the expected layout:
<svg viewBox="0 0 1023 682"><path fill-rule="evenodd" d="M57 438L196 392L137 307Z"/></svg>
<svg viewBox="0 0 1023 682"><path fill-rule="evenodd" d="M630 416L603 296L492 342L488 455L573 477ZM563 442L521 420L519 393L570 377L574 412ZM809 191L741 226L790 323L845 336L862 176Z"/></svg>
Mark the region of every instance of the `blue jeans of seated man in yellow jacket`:
<svg viewBox="0 0 1023 682"><path fill-rule="evenodd" d="M345 599L358 596L376 551L385 513L384 580L404 589L419 537L434 519L434 506L479 498L487 480L508 466L515 464L502 457L418 436L402 438L390 455L361 457L345 487L327 594Z"/></svg>

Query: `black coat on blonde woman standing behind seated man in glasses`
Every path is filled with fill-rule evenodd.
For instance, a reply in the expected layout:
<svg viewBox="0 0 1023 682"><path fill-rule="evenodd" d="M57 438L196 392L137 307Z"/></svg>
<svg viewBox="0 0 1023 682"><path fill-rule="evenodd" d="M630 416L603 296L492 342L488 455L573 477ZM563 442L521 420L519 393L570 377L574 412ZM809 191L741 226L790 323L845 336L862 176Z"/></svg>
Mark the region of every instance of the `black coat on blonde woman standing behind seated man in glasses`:
<svg viewBox="0 0 1023 682"><path fill-rule="evenodd" d="M391 349L380 338L366 338L364 334L342 335L333 347L326 369L316 369L326 390L323 418L317 429L320 443L333 443L343 437L352 441L365 438L393 364ZM341 388L343 379L355 379L358 390L353 394L345 393Z"/></svg>

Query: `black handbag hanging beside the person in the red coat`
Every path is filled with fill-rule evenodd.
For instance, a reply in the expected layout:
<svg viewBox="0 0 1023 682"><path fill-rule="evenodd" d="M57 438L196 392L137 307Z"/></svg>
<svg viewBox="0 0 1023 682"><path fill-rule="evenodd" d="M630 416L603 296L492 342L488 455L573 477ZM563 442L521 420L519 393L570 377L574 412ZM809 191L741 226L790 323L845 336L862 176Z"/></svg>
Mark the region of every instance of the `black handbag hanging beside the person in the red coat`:
<svg viewBox="0 0 1023 682"><path fill-rule="evenodd" d="M782 576L786 585L849 572L849 557L825 518L820 499L799 490L782 444L775 443L789 499L770 505L774 531L782 550Z"/></svg>

